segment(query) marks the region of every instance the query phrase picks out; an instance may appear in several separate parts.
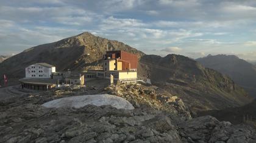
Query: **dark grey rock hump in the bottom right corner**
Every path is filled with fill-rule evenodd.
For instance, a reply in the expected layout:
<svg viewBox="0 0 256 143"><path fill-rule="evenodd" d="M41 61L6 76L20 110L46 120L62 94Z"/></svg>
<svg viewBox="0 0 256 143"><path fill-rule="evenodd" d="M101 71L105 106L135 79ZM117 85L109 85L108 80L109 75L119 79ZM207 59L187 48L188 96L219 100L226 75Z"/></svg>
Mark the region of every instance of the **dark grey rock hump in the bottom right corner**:
<svg viewBox="0 0 256 143"><path fill-rule="evenodd" d="M182 142L256 142L252 127L219 122L212 116L194 118L179 126Z"/></svg>

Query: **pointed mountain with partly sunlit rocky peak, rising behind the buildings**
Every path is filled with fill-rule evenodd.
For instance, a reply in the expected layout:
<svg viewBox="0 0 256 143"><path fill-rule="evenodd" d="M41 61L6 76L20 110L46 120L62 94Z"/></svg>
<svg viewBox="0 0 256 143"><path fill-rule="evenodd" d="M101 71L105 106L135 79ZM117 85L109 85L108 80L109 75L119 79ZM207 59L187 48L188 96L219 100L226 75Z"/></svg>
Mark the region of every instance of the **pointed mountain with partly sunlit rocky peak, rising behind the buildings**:
<svg viewBox="0 0 256 143"><path fill-rule="evenodd" d="M24 68L37 62L47 62L55 65L57 71L83 70L87 65L96 65L107 50L124 50L136 53L139 57L144 53L124 44L112 41L88 32L77 36L62 39L50 44L38 45L24 50L0 64L0 75L6 74L9 78L21 78L24 76ZM88 55L90 54L90 55Z"/></svg>

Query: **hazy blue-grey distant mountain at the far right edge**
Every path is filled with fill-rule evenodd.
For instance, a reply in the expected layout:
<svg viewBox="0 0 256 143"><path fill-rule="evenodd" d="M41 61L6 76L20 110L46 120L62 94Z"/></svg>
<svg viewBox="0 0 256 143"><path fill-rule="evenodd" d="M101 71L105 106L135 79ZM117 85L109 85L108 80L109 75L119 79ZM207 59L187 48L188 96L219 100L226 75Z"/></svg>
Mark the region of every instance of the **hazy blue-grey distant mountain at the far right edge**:
<svg viewBox="0 0 256 143"><path fill-rule="evenodd" d="M256 67L233 55L216 55L196 59L202 65L230 76L244 87L251 96L256 97Z"/></svg>

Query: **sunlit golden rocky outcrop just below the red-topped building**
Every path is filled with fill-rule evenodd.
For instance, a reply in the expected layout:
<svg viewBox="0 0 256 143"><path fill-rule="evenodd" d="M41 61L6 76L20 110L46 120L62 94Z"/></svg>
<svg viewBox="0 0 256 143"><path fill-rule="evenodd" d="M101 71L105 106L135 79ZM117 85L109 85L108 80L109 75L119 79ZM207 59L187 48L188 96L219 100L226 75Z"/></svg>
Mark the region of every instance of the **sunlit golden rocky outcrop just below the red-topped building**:
<svg viewBox="0 0 256 143"><path fill-rule="evenodd" d="M190 111L184 105L182 99L177 96L165 96L157 93L154 88L141 84L119 83L105 88L107 93L119 96L133 104L134 107L148 105L156 110L167 111L180 116L182 119L191 119Z"/></svg>

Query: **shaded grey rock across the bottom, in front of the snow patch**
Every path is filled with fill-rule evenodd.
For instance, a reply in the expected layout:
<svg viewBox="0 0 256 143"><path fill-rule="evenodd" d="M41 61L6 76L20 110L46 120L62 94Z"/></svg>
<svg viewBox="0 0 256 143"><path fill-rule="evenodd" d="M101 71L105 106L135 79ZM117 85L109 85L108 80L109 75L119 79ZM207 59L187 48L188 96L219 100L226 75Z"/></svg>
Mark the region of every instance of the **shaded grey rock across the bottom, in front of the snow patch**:
<svg viewBox="0 0 256 143"><path fill-rule="evenodd" d="M123 110L86 105L48 109L21 105L5 113L0 120L0 142L256 141L255 130L245 125L219 122L212 116L183 121L151 107Z"/></svg>

